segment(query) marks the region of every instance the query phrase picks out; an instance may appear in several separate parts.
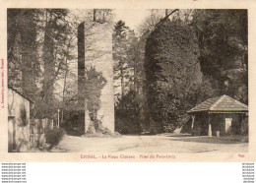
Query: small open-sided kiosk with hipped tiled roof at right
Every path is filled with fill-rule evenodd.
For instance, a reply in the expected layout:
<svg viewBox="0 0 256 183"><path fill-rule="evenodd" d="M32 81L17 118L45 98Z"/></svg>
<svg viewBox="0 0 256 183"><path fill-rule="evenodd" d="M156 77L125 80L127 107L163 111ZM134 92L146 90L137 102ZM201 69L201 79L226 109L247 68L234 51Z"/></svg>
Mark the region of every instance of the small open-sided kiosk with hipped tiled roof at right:
<svg viewBox="0 0 256 183"><path fill-rule="evenodd" d="M192 135L237 135L248 116L248 106L224 94L207 99L188 113L192 116Z"/></svg>

